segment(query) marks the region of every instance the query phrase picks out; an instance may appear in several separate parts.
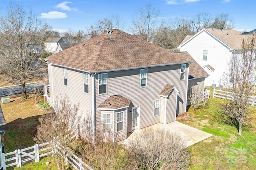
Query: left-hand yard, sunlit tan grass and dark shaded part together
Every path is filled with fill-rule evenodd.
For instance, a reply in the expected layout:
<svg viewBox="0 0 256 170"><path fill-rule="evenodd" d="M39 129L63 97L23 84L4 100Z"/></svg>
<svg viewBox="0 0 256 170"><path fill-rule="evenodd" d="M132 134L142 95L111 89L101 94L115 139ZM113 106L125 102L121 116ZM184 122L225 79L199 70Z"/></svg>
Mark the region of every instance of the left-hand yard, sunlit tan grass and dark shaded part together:
<svg viewBox="0 0 256 170"><path fill-rule="evenodd" d="M43 100L40 97L39 100ZM11 152L15 149L23 149L35 144L34 134L38 125L38 117L47 113L35 105L34 98L24 100L18 99L7 104L1 104L6 125L4 129L4 145L5 151Z"/></svg>

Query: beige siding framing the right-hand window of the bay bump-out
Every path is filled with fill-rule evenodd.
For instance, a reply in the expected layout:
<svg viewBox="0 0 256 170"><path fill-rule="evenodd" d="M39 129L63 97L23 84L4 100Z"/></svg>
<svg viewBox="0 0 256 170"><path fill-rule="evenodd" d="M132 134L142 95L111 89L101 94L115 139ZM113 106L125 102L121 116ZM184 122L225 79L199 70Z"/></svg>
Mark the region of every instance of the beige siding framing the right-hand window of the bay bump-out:
<svg viewBox="0 0 256 170"><path fill-rule="evenodd" d="M122 111L124 112L124 130L120 131L120 132L117 132L117 113L120 113ZM116 133L115 141L120 141L120 140L126 139L126 108L116 110L114 118L115 118L114 119L114 132Z"/></svg>

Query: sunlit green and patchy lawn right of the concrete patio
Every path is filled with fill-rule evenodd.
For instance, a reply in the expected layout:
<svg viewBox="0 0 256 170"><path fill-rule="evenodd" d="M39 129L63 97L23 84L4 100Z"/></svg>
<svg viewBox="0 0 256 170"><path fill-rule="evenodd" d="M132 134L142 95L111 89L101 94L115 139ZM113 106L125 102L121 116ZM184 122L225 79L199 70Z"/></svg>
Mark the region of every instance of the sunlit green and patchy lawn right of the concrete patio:
<svg viewBox="0 0 256 170"><path fill-rule="evenodd" d="M212 95L211 95L212 96ZM210 98L206 109L188 110L190 117L180 122L211 133L214 136L189 147L192 153L192 170L251 170L256 167L256 107L250 125L238 135L236 127L218 121L215 116L224 100Z"/></svg>

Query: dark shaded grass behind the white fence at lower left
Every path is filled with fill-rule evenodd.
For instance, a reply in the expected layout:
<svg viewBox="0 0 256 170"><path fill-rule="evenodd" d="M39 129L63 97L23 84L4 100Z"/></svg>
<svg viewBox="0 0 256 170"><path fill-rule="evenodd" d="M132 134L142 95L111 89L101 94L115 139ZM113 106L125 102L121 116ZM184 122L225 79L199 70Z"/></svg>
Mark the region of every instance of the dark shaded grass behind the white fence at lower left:
<svg viewBox="0 0 256 170"><path fill-rule="evenodd" d="M25 119L18 118L1 127L5 131L5 153L12 152L15 149L31 147L35 144L33 137L36 134L36 127L39 124L39 116L36 115Z"/></svg>

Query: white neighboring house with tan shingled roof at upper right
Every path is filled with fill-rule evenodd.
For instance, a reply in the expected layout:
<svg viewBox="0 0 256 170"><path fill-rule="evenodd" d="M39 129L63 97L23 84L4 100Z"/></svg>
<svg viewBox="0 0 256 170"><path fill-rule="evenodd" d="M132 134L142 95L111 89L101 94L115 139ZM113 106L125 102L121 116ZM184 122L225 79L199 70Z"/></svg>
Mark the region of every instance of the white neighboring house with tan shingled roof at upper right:
<svg viewBox="0 0 256 170"><path fill-rule="evenodd" d="M245 36L248 34L237 30L204 28L195 35L187 35L178 49L187 51L209 74L205 86L219 86L232 53L241 49L241 40Z"/></svg>

